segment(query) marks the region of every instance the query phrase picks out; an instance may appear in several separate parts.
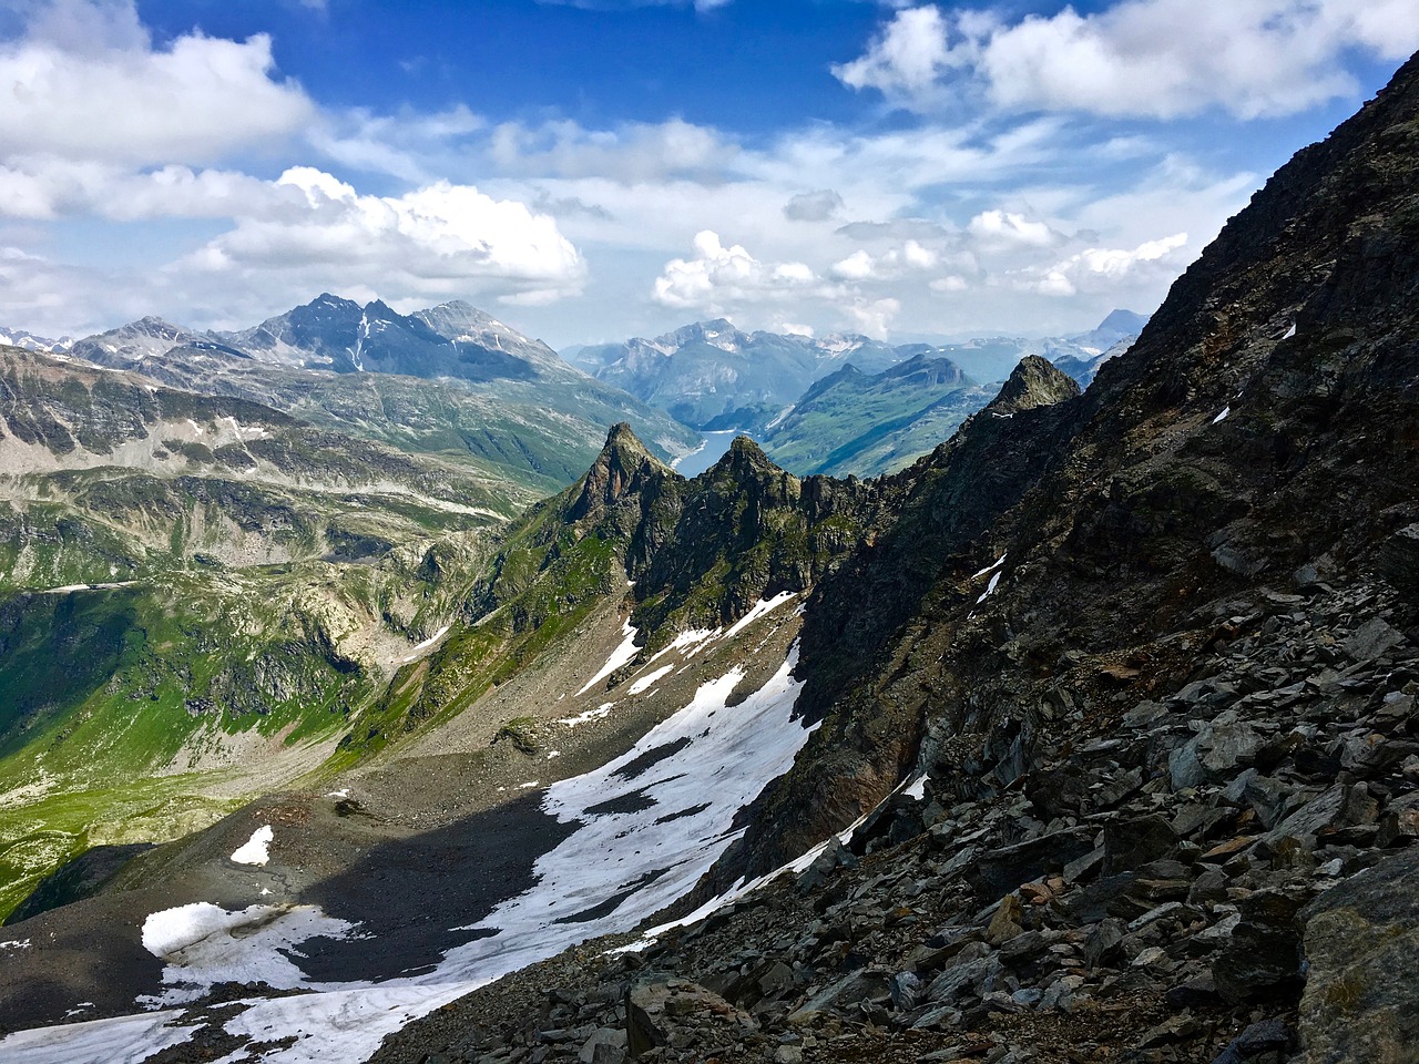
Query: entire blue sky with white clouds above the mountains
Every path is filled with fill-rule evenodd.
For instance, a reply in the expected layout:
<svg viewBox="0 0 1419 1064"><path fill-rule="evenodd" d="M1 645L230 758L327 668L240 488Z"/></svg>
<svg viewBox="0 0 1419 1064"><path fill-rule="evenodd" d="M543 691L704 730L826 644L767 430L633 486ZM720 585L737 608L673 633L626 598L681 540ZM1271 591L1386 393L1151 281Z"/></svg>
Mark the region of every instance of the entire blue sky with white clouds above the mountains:
<svg viewBox="0 0 1419 1064"><path fill-rule="evenodd" d="M0 0L0 328L1083 331L1416 47L1413 0Z"/></svg>

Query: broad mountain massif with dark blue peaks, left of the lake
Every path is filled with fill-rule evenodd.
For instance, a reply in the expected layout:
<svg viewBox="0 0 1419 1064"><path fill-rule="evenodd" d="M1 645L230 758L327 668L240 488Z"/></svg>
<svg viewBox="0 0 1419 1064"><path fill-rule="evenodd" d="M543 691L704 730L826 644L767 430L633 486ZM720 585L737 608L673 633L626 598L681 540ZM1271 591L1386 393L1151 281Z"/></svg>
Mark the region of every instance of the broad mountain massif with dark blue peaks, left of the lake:
<svg viewBox="0 0 1419 1064"><path fill-rule="evenodd" d="M28 346L54 349L45 343ZM697 441L663 411L464 302L403 315L325 294L238 332L150 316L67 348L72 359L261 403L407 453L492 464L539 492L575 480L617 421L666 458Z"/></svg>

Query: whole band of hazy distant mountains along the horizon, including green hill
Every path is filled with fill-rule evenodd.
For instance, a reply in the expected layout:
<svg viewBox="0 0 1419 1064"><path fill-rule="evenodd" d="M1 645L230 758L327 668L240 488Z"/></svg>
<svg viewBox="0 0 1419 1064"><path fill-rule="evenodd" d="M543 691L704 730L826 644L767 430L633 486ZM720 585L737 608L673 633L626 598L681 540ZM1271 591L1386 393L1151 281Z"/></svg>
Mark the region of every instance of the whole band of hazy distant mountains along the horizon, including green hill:
<svg viewBox="0 0 1419 1064"><path fill-rule="evenodd" d="M1073 336L891 345L857 333L748 333L721 318L563 358L461 301L404 315L322 294L234 332L149 316L79 340L27 332L0 340L261 403L410 453L491 462L522 487L551 491L623 420L667 460L694 447L690 426L748 433L802 475L895 471L985 406L995 392L986 384L1022 358L1044 358L1087 387L1147 321L1114 311Z"/></svg>

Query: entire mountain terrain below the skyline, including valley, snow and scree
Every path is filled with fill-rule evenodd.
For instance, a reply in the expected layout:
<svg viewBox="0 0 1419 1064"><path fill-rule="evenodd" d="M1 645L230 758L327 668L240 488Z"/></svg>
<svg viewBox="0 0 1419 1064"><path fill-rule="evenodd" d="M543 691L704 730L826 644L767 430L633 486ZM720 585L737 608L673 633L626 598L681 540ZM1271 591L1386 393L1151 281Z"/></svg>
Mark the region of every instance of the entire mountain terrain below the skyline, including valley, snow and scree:
<svg viewBox="0 0 1419 1064"><path fill-rule="evenodd" d="M0 1060L1412 1060L1416 172L1410 60L998 387L4 349Z"/></svg>

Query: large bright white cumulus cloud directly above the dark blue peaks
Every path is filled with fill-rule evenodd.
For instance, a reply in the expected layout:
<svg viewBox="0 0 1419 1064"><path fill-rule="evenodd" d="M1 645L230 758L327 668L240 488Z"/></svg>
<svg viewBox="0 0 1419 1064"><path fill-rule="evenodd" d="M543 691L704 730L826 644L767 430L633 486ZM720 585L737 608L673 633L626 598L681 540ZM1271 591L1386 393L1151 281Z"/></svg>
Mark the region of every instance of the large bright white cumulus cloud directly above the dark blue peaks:
<svg viewBox="0 0 1419 1064"><path fill-rule="evenodd" d="M473 186L438 182L397 197L363 196L301 166L275 187L281 196L270 210L240 218L183 268L319 277L326 287L377 282L390 298L491 285L522 302L579 291L585 277L580 254L551 217Z"/></svg>

